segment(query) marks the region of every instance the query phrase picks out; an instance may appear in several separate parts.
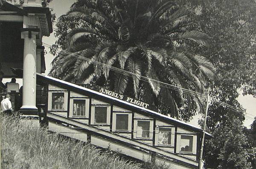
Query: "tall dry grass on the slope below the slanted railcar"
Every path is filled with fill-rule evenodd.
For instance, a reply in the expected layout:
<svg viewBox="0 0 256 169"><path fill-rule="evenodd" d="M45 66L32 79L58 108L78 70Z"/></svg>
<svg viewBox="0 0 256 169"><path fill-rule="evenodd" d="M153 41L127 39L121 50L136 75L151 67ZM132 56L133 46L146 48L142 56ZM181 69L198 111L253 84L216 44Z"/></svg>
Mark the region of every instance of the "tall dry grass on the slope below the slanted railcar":
<svg viewBox="0 0 256 169"><path fill-rule="evenodd" d="M49 133L33 120L0 115L2 169L167 169Z"/></svg>

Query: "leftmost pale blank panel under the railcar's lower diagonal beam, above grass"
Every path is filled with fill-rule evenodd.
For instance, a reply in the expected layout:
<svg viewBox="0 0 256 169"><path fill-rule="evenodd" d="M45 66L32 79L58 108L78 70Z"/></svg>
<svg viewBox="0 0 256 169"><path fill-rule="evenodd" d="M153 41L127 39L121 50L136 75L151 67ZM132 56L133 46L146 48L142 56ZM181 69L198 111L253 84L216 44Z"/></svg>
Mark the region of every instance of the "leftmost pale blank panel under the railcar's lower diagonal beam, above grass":
<svg viewBox="0 0 256 169"><path fill-rule="evenodd" d="M61 135L65 135L71 138L75 138L75 139L87 142L87 133L78 132L76 130L73 130L52 122L49 122L48 129L49 131L57 132Z"/></svg>

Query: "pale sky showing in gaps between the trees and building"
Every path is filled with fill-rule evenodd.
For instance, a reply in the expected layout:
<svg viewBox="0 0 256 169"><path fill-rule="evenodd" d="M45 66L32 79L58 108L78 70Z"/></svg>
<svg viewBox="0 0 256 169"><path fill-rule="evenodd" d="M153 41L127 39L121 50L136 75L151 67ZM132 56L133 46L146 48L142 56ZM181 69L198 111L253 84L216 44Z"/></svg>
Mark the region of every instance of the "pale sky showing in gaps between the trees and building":
<svg viewBox="0 0 256 169"><path fill-rule="evenodd" d="M49 8L53 8L53 13L56 14L56 20L58 21L58 17L60 17L63 14L66 14L67 11L70 9L70 6L75 2L75 0L53 0L51 3L49 3ZM53 28L55 28L55 25L53 24ZM49 37L43 37L43 43L47 43L49 45L52 45L55 43L55 40L57 38L54 37L54 31ZM45 64L46 64L46 73L48 74L49 70L51 69L51 62L54 58L52 54L49 53L49 49L45 47L47 54L45 55ZM9 82L10 79L3 79L3 83ZM22 86L22 79L17 79L17 83ZM246 109L246 116L244 120L244 126L247 128L250 128L250 124L253 123L253 118L256 116L256 98L253 98L251 95L243 96L241 95L241 91L239 92L240 95L238 97L239 103ZM201 118L201 115L196 115L193 120L191 120L189 123L195 126L198 126L198 118Z"/></svg>

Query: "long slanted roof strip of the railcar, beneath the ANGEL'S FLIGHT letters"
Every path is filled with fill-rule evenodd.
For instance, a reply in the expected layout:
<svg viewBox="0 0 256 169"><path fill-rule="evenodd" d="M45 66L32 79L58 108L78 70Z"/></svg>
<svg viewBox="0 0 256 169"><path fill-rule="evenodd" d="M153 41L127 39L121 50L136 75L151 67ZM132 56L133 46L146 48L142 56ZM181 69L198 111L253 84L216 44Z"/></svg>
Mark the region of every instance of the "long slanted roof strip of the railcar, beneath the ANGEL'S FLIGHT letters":
<svg viewBox="0 0 256 169"><path fill-rule="evenodd" d="M152 118L157 119L157 120L164 121L166 123L175 124L177 126L180 126L181 128L188 129L190 131L199 132L201 134L203 133L203 130L198 128L197 126L193 126L189 123L185 123L185 122L177 120L175 118L168 117L166 115L162 115L158 112L154 112L152 110L145 109L143 107L134 105L132 103L128 103L124 100L119 100L115 97L111 97L111 96L105 95L103 93L96 92L92 89L84 88L82 86L78 86L76 84L66 82L64 80L59 80L59 79L56 79L54 77L49 77L47 75L43 75L43 74L39 74L39 73L37 73L37 80L39 80L41 82L44 82L44 83L49 83L49 84L52 84L52 85L56 85L58 87L61 87L61 88L67 89L67 90L71 90L73 92L77 92L77 93L80 93L80 94L91 95L92 97L95 97L96 99L104 100L107 103L113 103L116 106L119 106L119 107L122 107L122 108L125 108L125 109L129 109L133 112L142 113L143 115L152 117ZM207 132L205 132L205 135L208 138L212 137L212 135L207 133Z"/></svg>

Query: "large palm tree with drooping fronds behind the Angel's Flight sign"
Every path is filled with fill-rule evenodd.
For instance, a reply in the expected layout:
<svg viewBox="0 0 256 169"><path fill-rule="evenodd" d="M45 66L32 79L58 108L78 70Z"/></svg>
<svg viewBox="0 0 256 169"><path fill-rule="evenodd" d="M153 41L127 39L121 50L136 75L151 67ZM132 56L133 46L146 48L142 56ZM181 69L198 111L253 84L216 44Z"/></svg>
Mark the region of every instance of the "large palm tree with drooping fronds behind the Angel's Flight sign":
<svg viewBox="0 0 256 169"><path fill-rule="evenodd" d="M192 12L174 0L78 0L60 19L73 27L50 75L105 85L165 114L180 107L195 112L198 97L159 82L200 92L213 77L212 64L193 52L207 46L209 36L198 31Z"/></svg>

